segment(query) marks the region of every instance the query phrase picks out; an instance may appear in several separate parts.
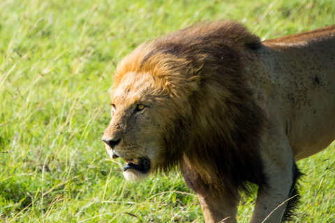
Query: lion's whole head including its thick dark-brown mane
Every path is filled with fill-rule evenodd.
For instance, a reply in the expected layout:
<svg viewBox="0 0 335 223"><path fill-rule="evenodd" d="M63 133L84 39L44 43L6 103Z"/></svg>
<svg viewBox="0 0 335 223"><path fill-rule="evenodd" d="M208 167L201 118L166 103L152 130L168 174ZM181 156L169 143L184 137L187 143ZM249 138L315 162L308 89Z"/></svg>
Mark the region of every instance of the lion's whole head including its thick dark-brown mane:
<svg viewBox="0 0 335 223"><path fill-rule="evenodd" d="M243 26L216 22L143 43L119 63L103 141L111 157L127 162L128 180L187 163L205 184L258 183L262 174L246 173L261 172L262 117L241 60L242 49L258 45Z"/></svg>

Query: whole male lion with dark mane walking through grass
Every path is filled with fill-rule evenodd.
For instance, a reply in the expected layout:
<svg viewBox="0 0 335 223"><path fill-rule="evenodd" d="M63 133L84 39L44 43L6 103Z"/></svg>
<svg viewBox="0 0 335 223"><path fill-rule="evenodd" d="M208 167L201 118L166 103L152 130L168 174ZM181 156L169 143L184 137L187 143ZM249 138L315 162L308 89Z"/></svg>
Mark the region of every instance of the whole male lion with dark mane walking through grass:
<svg viewBox="0 0 335 223"><path fill-rule="evenodd" d="M260 41L237 22L189 26L122 59L107 153L127 180L179 169L210 222L290 220L296 162L335 139L335 25Z"/></svg>

